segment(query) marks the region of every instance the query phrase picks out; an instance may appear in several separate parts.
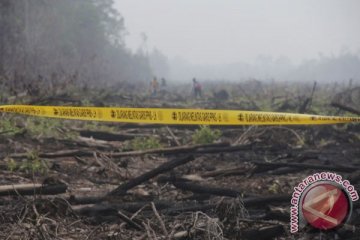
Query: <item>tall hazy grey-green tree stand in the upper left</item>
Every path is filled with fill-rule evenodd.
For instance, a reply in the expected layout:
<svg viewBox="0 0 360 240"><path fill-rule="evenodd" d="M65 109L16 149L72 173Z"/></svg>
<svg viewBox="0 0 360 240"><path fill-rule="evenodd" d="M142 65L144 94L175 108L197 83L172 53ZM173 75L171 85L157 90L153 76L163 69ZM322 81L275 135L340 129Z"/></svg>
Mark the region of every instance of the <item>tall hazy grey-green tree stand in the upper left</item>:
<svg viewBox="0 0 360 240"><path fill-rule="evenodd" d="M0 77L31 82L72 76L86 83L145 81L148 57L126 48L112 0L1 0Z"/></svg>

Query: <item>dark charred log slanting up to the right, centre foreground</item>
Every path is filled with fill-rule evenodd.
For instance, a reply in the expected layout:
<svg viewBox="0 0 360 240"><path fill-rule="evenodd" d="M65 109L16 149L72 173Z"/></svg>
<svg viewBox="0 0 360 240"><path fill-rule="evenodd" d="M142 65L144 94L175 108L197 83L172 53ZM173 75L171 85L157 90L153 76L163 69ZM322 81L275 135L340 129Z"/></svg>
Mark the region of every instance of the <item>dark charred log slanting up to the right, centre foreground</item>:
<svg viewBox="0 0 360 240"><path fill-rule="evenodd" d="M126 183L121 184L119 187L117 187L116 189L114 189L113 191L111 191L108 196L122 196L125 195L126 192L130 189L132 189L133 187L136 187L137 185L140 185L143 182L146 182L147 180L161 174L167 171L170 171L180 165L186 164L190 161L195 160L195 158L193 156L186 156L184 158L178 158L178 159L173 159L171 161L168 161L160 166L158 166L155 169L152 169L134 179L129 180Z"/></svg>

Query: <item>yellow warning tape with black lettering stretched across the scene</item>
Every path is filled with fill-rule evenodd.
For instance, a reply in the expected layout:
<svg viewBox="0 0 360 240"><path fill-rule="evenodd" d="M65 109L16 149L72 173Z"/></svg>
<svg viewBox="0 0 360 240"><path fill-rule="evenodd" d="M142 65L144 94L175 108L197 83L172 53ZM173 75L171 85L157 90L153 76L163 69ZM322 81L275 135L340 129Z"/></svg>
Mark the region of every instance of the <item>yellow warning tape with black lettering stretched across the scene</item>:
<svg viewBox="0 0 360 240"><path fill-rule="evenodd" d="M0 106L0 112L87 121L181 125L313 125L360 122L360 117L210 109L6 105Z"/></svg>

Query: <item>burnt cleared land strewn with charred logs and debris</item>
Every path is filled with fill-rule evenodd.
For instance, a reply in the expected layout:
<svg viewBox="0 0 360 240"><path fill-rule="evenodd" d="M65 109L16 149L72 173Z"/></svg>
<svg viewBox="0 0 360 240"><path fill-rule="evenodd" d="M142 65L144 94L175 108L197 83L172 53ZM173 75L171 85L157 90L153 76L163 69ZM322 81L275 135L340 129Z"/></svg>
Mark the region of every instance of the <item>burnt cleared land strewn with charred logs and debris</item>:
<svg viewBox="0 0 360 240"><path fill-rule="evenodd" d="M149 97L126 84L111 91L39 89L36 96L25 91L3 99L359 113L356 86L258 81L204 86L198 100L186 96L190 85ZM337 172L360 189L359 124L200 128L2 114L0 132L1 239L293 239L290 198L304 177ZM306 227L295 238L356 239L359 223L355 203L351 220L339 231Z"/></svg>

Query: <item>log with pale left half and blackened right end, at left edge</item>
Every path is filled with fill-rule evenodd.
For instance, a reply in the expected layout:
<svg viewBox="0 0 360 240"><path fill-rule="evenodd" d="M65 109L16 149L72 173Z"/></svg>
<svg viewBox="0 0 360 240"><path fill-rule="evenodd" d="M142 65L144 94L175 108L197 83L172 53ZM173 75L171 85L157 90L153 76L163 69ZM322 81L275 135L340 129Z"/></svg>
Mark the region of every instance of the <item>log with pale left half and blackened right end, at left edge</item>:
<svg viewBox="0 0 360 240"><path fill-rule="evenodd" d="M43 185L38 183L3 185L0 186L0 196L15 195L56 195L65 193L66 184Z"/></svg>

